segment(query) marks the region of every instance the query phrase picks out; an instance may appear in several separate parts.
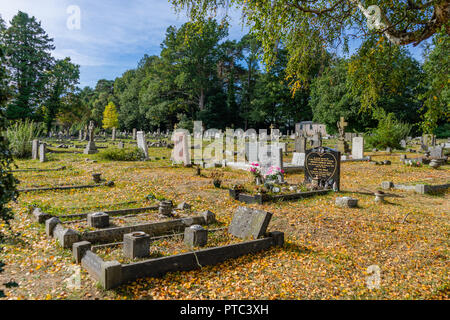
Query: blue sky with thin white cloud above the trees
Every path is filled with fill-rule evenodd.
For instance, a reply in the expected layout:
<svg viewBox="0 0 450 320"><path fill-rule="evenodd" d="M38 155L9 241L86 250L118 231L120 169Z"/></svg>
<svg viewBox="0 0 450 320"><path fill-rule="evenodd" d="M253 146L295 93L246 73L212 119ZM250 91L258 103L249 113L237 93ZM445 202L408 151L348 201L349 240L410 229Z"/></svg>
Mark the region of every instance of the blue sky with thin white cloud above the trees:
<svg viewBox="0 0 450 320"><path fill-rule="evenodd" d="M80 29L67 27L70 6L80 9ZM188 21L168 0L1 0L0 14L8 23L18 10L35 16L54 39L56 58L70 57L81 66L80 86L115 79L135 68L144 54L160 53L166 29ZM240 13L231 12L230 39L248 30ZM421 50L411 51L421 59Z"/></svg>

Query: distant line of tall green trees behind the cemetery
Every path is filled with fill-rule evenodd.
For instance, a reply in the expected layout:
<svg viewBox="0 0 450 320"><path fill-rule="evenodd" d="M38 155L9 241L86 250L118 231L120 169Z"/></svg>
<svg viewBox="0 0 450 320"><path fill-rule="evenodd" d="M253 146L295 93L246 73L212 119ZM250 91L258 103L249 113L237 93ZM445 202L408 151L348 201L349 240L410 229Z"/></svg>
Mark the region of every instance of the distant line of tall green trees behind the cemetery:
<svg viewBox="0 0 450 320"><path fill-rule="evenodd" d="M201 28L186 23L167 29L159 56L146 55L121 77L80 89L79 66L69 58L51 57L52 39L34 17L19 12L8 28L0 20L0 29L0 89L7 97L2 108L8 119L43 122L47 130L57 124L75 131L90 120L102 126L109 103L117 107L118 129L128 131L171 130L174 125L191 129L192 120L218 129L273 124L293 130L296 122L314 120L334 133L344 116L348 130L363 132L390 113L411 124L414 133L437 125L438 131L443 125L448 130L448 114L442 116L442 109L448 111L448 85L438 98L432 92L436 69L448 66L445 35L435 37L423 64L383 39L366 40L349 58L319 50L299 86L298 79L286 76L289 57L282 43L274 48L277 59L267 68L254 36L230 41L225 23L207 20ZM374 68L377 76L371 79L367 71L373 74ZM362 108L374 95L374 106ZM433 108L440 112L435 117L439 120L422 126L423 115Z"/></svg>

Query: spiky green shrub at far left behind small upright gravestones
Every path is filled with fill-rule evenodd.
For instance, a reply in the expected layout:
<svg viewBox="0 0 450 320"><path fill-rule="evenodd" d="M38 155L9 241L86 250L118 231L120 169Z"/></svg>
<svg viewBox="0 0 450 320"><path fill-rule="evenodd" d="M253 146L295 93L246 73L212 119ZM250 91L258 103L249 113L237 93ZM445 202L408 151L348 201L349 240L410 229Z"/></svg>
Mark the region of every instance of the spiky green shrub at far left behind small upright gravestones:
<svg viewBox="0 0 450 320"><path fill-rule="evenodd" d="M12 155L17 158L31 156L31 141L42 133L42 126L33 121L17 121L6 130L9 148Z"/></svg>

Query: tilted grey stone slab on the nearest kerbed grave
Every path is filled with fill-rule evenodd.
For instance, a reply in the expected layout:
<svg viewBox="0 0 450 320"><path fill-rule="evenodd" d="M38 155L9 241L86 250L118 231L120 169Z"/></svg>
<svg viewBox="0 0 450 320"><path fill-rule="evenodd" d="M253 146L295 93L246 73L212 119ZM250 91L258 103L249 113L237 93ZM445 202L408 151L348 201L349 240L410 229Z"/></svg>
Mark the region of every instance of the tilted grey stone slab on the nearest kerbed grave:
<svg viewBox="0 0 450 320"><path fill-rule="evenodd" d="M228 232L241 239L258 239L266 233L272 213L239 207L234 213Z"/></svg>

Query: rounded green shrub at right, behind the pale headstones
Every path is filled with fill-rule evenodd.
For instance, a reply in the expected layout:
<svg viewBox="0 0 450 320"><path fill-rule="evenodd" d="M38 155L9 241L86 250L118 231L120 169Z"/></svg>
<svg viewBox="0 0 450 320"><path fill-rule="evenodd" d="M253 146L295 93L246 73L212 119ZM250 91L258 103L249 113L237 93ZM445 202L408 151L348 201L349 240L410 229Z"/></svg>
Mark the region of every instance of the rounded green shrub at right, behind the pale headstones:
<svg viewBox="0 0 450 320"><path fill-rule="evenodd" d="M366 138L369 147L377 149L400 148L400 140L406 138L409 134L411 125L399 121L393 113L381 112L378 120L378 127L373 129Z"/></svg>

